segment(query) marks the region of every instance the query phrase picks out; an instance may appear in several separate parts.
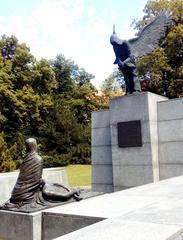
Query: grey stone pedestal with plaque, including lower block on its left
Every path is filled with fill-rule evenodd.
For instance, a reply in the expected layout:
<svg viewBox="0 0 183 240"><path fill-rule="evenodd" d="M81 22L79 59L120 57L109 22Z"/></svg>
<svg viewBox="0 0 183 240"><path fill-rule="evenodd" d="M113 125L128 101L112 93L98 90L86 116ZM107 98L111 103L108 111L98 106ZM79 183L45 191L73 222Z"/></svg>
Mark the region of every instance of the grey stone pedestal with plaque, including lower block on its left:
<svg viewBox="0 0 183 240"><path fill-rule="evenodd" d="M135 93L93 113L93 190L117 191L159 180L157 102L163 100L150 92Z"/></svg>

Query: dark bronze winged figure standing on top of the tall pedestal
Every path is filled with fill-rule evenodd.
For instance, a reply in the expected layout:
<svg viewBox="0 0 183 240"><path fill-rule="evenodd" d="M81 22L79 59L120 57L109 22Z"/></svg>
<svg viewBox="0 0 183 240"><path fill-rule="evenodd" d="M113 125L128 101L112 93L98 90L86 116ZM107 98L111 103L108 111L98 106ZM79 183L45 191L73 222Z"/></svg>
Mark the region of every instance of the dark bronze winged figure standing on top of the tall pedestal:
<svg viewBox="0 0 183 240"><path fill-rule="evenodd" d="M114 64L117 64L123 73L126 94L141 90L135 58L151 53L158 46L159 39L166 33L167 25L170 22L171 14L162 11L139 32L136 38L128 41L121 40L113 28L110 43L116 56Z"/></svg>

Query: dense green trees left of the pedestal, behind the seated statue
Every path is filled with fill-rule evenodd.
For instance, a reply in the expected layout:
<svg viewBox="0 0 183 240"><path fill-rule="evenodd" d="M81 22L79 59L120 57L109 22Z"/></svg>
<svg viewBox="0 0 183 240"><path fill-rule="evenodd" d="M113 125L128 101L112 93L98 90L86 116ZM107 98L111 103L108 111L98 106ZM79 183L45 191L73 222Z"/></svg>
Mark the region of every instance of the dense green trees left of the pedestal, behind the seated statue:
<svg viewBox="0 0 183 240"><path fill-rule="evenodd" d="M27 137L37 139L46 167L90 163L91 112L106 105L93 76L61 54L37 61L14 36L0 39L0 52L0 171L18 166Z"/></svg>

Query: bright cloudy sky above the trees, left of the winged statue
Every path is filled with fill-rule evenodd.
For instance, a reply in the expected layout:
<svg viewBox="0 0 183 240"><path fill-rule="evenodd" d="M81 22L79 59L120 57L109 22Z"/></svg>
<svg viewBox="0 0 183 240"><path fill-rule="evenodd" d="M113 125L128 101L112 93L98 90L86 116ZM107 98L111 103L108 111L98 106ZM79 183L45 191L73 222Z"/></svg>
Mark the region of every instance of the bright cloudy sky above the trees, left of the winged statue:
<svg viewBox="0 0 183 240"><path fill-rule="evenodd" d="M0 35L15 35L31 53L55 59L63 54L95 76L99 88L114 69L113 24L121 39L134 37L132 20L147 0L0 0Z"/></svg>

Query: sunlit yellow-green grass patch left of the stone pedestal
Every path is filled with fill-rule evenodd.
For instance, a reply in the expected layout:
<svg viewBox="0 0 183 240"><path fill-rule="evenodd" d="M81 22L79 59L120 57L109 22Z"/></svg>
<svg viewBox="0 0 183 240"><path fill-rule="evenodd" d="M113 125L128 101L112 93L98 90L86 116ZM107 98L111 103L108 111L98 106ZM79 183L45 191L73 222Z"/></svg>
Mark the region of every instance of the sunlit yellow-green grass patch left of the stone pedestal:
<svg viewBox="0 0 183 240"><path fill-rule="evenodd" d="M71 187L91 185L91 165L69 165L65 170Z"/></svg>

